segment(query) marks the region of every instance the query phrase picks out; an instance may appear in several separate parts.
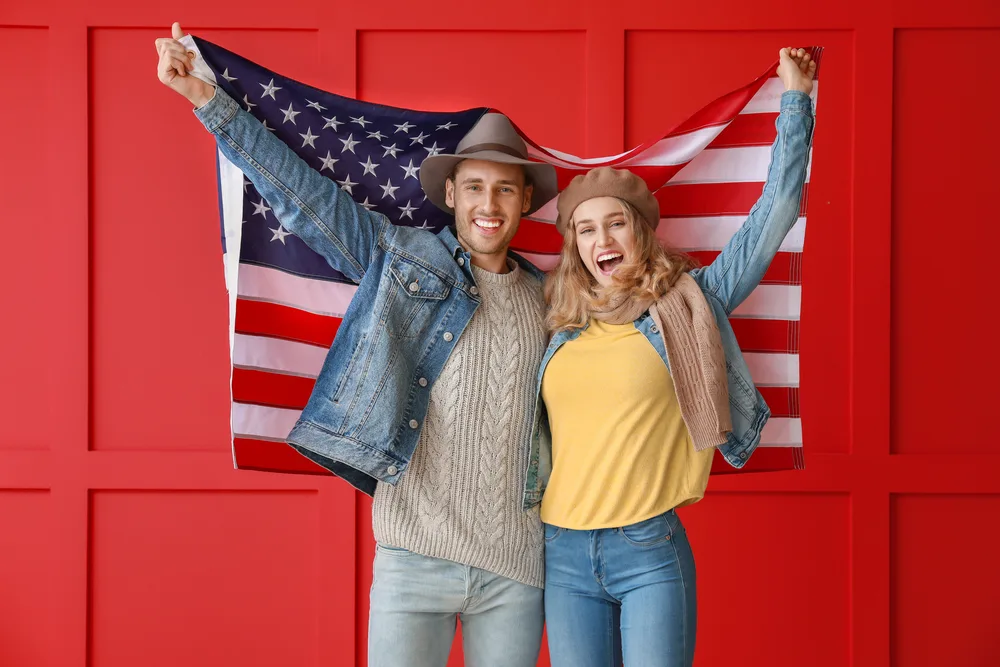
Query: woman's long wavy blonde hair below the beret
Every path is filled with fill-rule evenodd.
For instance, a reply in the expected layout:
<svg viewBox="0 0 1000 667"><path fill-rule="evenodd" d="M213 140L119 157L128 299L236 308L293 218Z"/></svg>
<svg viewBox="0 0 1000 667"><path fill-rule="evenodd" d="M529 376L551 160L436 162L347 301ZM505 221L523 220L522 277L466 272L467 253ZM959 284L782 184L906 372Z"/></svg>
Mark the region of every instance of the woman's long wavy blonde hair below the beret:
<svg viewBox="0 0 1000 667"><path fill-rule="evenodd" d="M576 221L571 218L563 236L559 263L545 281L545 301L549 305L545 325L549 333L583 328L594 310L623 296L655 301L666 294L682 273L695 266L686 254L664 248L638 209L624 199L615 199L635 238L633 256L618 266L613 284L602 287L580 258Z"/></svg>

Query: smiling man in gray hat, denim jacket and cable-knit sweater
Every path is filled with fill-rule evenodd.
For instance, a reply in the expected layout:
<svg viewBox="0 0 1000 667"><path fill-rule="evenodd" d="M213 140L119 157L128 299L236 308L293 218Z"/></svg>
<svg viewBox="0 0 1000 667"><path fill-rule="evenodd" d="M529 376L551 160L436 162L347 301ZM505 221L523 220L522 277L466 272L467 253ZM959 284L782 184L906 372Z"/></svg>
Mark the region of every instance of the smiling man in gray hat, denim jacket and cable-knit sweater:
<svg viewBox="0 0 1000 667"><path fill-rule="evenodd" d="M282 226L358 282L287 442L373 495L369 664L442 667L461 616L467 664L533 666L543 532L524 510L542 276L508 253L521 215L557 193L510 122L487 114L420 181L455 229L396 227L320 176L156 40L161 82L195 106Z"/></svg>

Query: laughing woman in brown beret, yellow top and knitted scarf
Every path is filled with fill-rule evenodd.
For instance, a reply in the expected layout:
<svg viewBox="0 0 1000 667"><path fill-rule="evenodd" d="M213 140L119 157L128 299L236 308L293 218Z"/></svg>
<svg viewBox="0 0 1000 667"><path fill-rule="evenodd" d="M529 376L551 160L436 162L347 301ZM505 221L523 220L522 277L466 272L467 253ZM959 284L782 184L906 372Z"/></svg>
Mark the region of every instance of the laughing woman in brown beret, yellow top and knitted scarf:
<svg viewBox="0 0 1000 667"><path fill-rule="evenodd" d="M742 466L769 411L729 314L799 214L816 66L782 49L777 139L763 194L711 265L655 236L636 175L578 176L559 198L562 257L546 286L553 334L539 371L551 427L533 452L544 489L545 616L553 667L687 667L695 566L675 509L700 500L715 448Z"/></svg>

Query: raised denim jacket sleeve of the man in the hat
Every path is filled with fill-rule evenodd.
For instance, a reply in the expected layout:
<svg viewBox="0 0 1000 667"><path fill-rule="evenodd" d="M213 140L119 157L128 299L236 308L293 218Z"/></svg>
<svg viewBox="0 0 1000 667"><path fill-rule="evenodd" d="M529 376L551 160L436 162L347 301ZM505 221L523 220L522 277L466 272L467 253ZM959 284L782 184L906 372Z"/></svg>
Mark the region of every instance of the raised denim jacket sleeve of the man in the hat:
<svg viewBox="0 0 1000 667"><path fill-rule="evenodd" d="M219 150L254 184L281 225L360 282L388 220L358 205L306 164L221 88L195 116Z"/></svg>

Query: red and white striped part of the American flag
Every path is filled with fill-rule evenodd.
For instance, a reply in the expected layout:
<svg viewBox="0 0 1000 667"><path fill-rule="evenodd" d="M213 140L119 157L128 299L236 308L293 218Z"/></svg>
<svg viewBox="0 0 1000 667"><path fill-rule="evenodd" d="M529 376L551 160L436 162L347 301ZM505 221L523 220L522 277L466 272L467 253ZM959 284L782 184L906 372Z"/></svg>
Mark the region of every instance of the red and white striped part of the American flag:
<svg viewBox="0 0 1000 667"><path fill-rule="evenodd" d="M819 55L815 50L817 60ZM775 69L709 104L664 137L619 155L581 159L522 136L534 158L556 167L560 188L597 166L640 174L660 202L658 236L707 264L743 224L763 189L783 92ZM234 461L244 469L329 474L283 441L309 399L356 288L239 264L242 174L221 153L219 157L229 250ZM761 447L743 471L803 465L798 386L806 194L801 216L763 283L731 319L773 415ZM524 219L513 244L545 270L555 266L561 247L553 224L557 200ZM713 473L732 472L736 470L717 456Z"/></svg>

